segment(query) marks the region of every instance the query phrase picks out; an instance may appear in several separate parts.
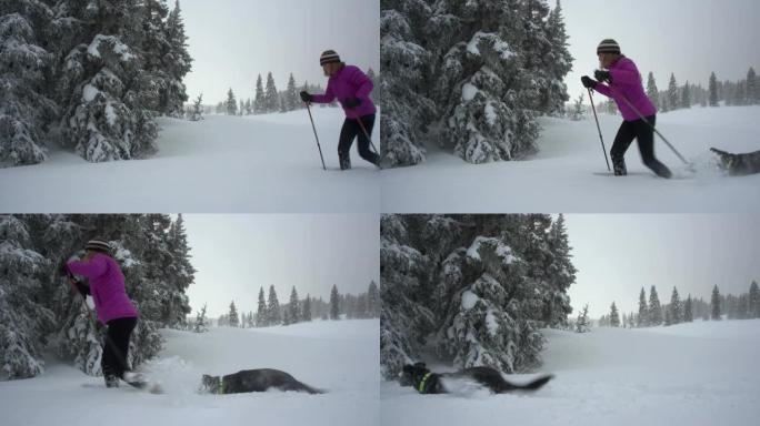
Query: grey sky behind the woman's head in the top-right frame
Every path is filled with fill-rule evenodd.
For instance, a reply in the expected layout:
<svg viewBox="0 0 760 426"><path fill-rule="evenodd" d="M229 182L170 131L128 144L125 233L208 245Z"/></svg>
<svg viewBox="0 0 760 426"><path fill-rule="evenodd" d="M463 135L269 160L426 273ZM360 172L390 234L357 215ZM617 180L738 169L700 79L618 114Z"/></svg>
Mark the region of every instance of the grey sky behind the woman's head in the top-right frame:
<svg viewBox="0 0 760 426"><path fill-rule="evenodd" d="M760 65L757 0L566 0L562 10L576 58L566 79L572 99L584 92L581 75L593 75L599 67L597 45L606 38L633 59L644 84L652 71L660 90L671 72L679 84L688 80L707 88L712 71L719 80L736 81Z"/></svg>

